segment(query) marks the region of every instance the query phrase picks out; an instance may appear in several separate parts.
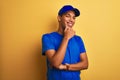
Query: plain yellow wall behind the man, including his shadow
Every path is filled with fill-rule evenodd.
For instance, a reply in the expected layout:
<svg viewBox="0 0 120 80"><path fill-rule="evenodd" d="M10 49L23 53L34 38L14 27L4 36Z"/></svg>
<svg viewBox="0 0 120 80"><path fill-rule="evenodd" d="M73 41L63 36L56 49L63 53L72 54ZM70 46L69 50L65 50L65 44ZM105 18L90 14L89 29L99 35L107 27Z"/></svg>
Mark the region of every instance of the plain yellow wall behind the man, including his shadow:
<svg viewBox="0 0 120 80"><path fill-rule="evenodd" d="M45 80L42 34L57 29L64 4L81 11L74 29L89 58L82 80L120 80L119 0L0 0L0 80Z"/></svg>

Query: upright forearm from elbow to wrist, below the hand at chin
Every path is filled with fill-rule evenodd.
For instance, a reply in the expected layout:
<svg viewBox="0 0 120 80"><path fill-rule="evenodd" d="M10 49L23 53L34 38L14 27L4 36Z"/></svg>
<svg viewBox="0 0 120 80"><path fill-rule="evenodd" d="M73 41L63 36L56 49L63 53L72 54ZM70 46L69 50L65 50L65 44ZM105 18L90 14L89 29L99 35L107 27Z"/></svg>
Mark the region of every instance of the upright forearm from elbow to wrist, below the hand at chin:
<svg viewBox="0 0 120 80"><path fill-rule="evenodd" d="M68 41L69 40L66 37L64 37L59 49L56 51L55 55L52 57L51 63L54 67L59 67L59 65L62 63L66 53Z"/></svg>

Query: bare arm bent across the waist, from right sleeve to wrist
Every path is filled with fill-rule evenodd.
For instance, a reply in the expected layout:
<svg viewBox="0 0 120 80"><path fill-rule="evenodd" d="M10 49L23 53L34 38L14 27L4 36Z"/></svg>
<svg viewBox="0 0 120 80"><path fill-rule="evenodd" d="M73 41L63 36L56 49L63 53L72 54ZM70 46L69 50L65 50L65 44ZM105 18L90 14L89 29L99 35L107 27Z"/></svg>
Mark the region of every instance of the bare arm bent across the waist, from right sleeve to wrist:
<svg viewBox="0 0 120 80"><path fill-rule="evenodd" d="M86 53L80 54L81 61L76 64L66 64L68 70L77 71L88 68L88 58Z"/></svg>

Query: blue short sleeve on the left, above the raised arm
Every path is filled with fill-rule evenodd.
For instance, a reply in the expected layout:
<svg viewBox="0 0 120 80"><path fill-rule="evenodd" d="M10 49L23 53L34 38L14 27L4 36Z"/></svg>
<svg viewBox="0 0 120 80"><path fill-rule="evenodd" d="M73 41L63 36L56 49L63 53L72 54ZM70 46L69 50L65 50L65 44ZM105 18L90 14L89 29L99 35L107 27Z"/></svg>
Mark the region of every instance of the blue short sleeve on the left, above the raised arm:
<svg viewBox="0 0 120 80"><path fill-rule="evenodd" d="M51 40L49 34L44 34L42 36L42 55L45 55L45 51L50 49L55 49L53 41Z"/></svg>

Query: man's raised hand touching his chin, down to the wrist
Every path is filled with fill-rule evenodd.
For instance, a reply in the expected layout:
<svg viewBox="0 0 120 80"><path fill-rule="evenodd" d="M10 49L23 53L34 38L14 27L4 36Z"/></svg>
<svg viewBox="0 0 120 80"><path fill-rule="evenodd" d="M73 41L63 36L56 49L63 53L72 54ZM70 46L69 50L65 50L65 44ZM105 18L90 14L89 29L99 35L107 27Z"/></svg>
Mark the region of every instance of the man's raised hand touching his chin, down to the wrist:
<svg viewBox="0 0 120 80"><path fill-rule="evenodd" d="M64 30L64 37L67 38L68 40L71 39L75 35L75 31L70 28L66 27Z"/></svg>

